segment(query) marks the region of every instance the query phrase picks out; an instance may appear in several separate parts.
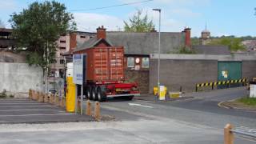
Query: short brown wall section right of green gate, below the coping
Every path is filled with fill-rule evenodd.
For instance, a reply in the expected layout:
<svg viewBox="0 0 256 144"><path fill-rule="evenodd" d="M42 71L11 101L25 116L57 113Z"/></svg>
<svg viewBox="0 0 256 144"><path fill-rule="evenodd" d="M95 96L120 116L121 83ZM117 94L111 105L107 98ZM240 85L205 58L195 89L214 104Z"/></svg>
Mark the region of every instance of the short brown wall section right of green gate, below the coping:
<svg viewBox="0 0 256 144"><path fill-rule="evenodd" d="M242 78L248 78L249 81L256 78L256 60L242 61Z"/></svg>

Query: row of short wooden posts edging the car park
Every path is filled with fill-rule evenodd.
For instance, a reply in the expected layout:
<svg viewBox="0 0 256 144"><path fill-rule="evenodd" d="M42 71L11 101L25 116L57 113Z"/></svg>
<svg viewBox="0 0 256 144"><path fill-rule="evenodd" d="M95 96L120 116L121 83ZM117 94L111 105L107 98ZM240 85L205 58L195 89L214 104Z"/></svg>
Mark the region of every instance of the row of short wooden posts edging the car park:
<svg viewBox="0 0 256 144"><path fill-rule="evenodd" d="M56 94L44 94L42 92L38 92L35 90L29 90L29 99L38 101L38 102L46 102L56 106L60 106L65 108L66 98L59 97ZM78 101L78 110L81 109L80 101ZM94 102L94 114L92 114L92 105L90 100L86 101L86 115L93 116L97 121L101 119L101 110L100 110L100 102Z"/></svg>

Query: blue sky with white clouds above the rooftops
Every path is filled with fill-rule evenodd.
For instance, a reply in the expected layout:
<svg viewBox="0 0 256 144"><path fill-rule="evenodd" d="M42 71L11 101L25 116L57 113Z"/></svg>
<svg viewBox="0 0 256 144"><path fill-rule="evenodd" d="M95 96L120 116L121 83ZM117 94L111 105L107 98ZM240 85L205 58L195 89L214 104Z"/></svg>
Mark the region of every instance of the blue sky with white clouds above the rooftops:
<svg viewBox="0 0 256 144"><path fill-rule="evenodd" d="M38 0L41 2L41 0ZM118 5L142 0L58 0L65 3L67 10L74 14L78 30L95 31L98 26L107 30L120 30L137 9L152 18L158 29L158 13L152 8L162 9L162 31L178 32L185 26L192 30L192 36L210 30L211 35L256 36L254 15L255 0L154 0L130 6L112 7L102 10L87 10L102 6ZM13 12L20 12L33 0L0 0L0 19L10 27L8 19Z"/></svg>

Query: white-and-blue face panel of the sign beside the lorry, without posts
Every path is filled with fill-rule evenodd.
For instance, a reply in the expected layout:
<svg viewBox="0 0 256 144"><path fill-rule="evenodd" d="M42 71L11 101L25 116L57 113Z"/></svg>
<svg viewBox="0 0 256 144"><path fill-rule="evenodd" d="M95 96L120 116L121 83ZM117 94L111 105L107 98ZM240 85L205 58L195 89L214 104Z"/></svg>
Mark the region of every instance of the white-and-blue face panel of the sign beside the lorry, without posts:
<svg viewBox="0 0 256 144"><path fill-rule="evenodd" d="M83 54L73 55L73 82L82 85L83 81Z"/></svg>

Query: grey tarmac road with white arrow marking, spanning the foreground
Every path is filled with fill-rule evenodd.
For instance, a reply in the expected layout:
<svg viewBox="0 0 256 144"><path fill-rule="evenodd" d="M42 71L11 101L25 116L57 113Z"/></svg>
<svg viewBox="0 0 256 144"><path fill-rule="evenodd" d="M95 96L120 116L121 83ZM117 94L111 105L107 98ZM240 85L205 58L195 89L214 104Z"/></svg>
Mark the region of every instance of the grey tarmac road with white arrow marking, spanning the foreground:
<svg viewBox="0 0 256 144"><path fill-rule="evenodd" d="M256 113L215 105L244 92L217 90L179 102L110 100L102 102L102 114L114 116L114 122L0 125L0 143L223 143L223 127L228 122L256 128ZM255 143L238 135L235 138L235 143Z"/></svg>

